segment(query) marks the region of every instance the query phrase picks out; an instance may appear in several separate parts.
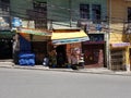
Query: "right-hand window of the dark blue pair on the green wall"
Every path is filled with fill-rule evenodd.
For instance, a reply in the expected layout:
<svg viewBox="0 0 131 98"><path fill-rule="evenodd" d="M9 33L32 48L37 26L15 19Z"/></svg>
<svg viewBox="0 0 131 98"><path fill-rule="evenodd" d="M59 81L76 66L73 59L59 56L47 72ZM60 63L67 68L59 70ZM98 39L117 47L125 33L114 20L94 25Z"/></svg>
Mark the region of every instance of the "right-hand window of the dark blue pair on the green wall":
<svg viewBox="0 0 131 98"><path fill-rule="evenodd" d="M92 20L100 21L100 4L92 4Z"/></svg>

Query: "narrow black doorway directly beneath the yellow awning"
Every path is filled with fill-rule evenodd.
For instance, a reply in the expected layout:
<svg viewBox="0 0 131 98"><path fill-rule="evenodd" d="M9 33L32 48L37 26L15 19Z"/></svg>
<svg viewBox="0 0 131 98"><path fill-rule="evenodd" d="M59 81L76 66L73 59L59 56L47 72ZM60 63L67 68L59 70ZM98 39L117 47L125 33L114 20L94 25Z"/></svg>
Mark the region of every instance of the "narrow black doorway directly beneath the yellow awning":
<svg viewBox="0 0 131 98"><path fill-rule="evenodd" d="M67 46L60 45L56 48L57 51L57 66L63 68L67 62L67 52L66 52Z"/></svg>

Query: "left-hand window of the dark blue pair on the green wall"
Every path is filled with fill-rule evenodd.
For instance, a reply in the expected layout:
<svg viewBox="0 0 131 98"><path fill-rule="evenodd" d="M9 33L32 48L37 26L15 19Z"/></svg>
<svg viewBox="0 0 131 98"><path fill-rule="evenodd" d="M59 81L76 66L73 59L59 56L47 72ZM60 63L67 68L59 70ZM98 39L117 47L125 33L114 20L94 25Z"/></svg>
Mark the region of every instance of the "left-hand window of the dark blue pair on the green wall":
<svg viewBox="0 0 131 98"><path fill-rule="evenodd" d="M90 19L90 5L80 4L80 16L81 19Z"/></svg>

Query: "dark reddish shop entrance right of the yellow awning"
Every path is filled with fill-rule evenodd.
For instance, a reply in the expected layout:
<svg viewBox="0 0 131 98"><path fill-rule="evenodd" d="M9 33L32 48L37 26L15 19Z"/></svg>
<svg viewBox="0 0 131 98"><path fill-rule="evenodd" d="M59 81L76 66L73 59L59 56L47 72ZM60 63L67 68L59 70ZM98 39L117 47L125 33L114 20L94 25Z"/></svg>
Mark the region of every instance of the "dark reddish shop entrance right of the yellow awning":
<svg viewBox="0 0 131 98"><path fill-rule="evenodd" d="M83 48L87 68L104 66L104 45L86 45Z"/></svg>

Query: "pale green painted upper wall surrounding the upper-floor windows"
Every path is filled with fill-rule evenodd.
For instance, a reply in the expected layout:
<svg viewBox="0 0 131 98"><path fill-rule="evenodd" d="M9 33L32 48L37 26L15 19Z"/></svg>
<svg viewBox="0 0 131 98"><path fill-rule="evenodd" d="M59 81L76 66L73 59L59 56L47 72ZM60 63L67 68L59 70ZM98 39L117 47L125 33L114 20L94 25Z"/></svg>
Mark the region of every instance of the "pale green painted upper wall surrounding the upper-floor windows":
<svg viewBox="0 0 131 98"><path fill-rule="evenodd" d="M34 0L35 1L35 0ZM53 25L70 27L76 26L80 20L80 3L102 4L102 19L107 15L107 0L36 0L47 2L48 20L55 21ZM26 17L26 10L33 9L33 0L11 0L11 10L15 15ZM70 12L70 9L72 11ZM92 10L92 9L91 9ZM71 13L71 15L70 15ZM90 13L92 16L92 12ZM71 21L70 21L71 20ZM61 22L61 24L59 23Z"/></svg>

